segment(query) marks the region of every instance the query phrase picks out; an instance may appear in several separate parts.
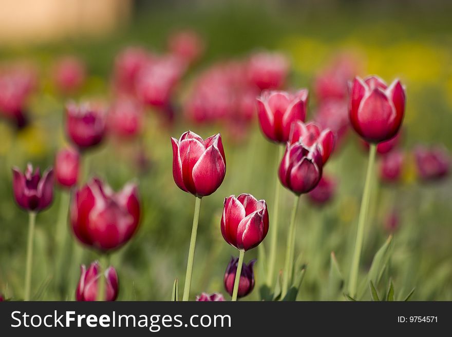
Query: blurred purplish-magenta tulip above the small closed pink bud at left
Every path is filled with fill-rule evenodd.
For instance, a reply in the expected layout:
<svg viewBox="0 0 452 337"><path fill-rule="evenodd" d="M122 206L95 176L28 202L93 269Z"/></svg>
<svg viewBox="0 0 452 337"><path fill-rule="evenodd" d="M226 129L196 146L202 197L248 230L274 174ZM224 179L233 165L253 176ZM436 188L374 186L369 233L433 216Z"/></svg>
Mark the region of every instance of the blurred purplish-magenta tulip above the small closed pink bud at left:
<svg viewBox="0 0 452 337"><path fill-rule="evenodd" d="M66 131L80 150L98 145L105 134L105 111L93 104L66 105Z"/></svg>

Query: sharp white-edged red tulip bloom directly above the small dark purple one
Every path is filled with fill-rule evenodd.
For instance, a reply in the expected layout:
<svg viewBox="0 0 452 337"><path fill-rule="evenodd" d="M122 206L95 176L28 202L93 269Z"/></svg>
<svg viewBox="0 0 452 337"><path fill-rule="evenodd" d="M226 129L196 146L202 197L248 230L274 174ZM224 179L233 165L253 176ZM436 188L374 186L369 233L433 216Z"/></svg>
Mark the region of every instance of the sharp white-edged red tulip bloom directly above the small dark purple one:
<svg viewBox="0 0 452 337"><path fill-rule="evenodd" d="M221 234L231 246L243 251L257 247L269 229L265 200L257 201L251 194L231 195L224 199Z"/></svg>

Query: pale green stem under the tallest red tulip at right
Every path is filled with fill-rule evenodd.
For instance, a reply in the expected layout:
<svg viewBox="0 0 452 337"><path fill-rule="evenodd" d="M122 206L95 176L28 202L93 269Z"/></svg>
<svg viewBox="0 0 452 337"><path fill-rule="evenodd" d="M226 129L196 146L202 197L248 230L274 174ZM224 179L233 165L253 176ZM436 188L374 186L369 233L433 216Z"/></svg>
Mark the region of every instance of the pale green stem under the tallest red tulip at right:
<svg viewBox="0 0 452 337"><path fill-rule="evenodd" d="M348 294L354 298L356 296L356 285L358 282L358 272L360 268L361 251L364 242L364 225L366 215L369 210L370 187L372 182L372 171L375 163L376 145L370 144L369 162L367 164L366 182L364 183L363 197L361 199L360 216L358 218L358 228L356 232L355 248L353 251L353 259L351 262L350 279L348 284Z"/></svg>

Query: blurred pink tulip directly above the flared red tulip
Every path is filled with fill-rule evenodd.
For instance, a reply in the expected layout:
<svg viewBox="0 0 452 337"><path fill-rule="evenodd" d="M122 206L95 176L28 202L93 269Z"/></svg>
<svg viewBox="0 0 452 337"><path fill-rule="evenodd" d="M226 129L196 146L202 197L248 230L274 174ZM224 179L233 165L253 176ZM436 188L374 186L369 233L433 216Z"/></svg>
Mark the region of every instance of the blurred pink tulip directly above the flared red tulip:
<svg viewBox="0 0 452 337"><path fill-rule="evenodd" d="M289 72L289 61L283 54L259 52L251 56L248 77L260 90L283 87Z"/></svg>

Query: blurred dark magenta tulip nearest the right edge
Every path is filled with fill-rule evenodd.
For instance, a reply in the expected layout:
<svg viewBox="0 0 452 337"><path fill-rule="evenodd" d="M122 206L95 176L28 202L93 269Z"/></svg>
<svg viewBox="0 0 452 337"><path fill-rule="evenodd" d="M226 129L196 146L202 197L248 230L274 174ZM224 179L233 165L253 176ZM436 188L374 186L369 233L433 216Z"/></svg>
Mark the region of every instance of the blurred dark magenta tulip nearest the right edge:
<svg viewBox="0 0 452 337"><path fill-rule="evenodd" d="M423 181L440 180L449 173L450 157L446 149L441 146L415 148L418 176Z"/></svg>

